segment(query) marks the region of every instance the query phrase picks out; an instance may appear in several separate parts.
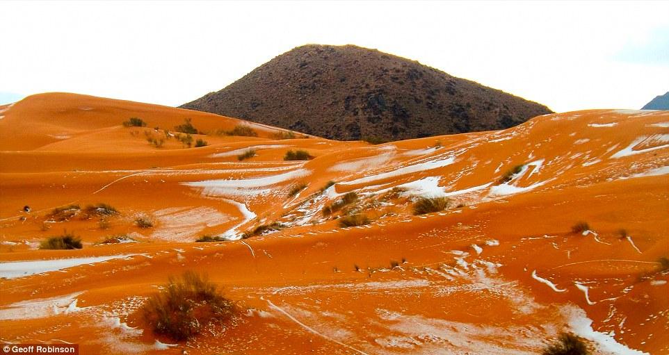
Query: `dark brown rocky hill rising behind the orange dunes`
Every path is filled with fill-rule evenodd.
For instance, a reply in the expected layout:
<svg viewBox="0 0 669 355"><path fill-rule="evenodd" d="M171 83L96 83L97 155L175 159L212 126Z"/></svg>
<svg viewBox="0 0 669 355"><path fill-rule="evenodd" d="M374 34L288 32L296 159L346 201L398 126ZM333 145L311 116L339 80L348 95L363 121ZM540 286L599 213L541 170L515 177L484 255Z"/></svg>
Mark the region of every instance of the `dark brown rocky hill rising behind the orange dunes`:
<svg viewBox="0 0 669 355"><path fill-rule="evenodd" d="M417 61L309 44L180 106L337 140L401 140L505 129L551 113Z"/></svg>

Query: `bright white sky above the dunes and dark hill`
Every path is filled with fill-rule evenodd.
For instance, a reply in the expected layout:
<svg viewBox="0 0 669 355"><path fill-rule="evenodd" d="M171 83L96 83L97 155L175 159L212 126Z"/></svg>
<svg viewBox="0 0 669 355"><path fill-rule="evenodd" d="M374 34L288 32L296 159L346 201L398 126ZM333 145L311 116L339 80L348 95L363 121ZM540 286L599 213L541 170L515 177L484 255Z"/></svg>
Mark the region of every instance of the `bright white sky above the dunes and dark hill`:
<svg viewBox="0 0 669 355"><path fill-rule="evenodd" d="M0 1L0 104L179 106L303 44L418 60L556 112L669 91L669 1Z"/></svg>

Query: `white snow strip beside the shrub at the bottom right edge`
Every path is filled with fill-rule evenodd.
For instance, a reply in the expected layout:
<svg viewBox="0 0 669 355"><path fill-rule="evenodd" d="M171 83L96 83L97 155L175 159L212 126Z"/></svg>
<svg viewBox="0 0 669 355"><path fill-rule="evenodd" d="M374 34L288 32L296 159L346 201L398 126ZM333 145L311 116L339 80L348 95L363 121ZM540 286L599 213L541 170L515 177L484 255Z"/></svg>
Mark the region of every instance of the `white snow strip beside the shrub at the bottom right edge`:
<svg viewBox="0 0 669 355"><path fill-rule="evenodd" d="M620 342L615 341L615 338L607 333L595 331L595 329L593 329L593 320L590 320L586 315L586 312L581 308L571 306L567 312L570 313L567 324L569 324L574 333L581 338L586 338L587 340L594 342L597 345L597 349L615 355L648 354L620 344Z"/></svg>

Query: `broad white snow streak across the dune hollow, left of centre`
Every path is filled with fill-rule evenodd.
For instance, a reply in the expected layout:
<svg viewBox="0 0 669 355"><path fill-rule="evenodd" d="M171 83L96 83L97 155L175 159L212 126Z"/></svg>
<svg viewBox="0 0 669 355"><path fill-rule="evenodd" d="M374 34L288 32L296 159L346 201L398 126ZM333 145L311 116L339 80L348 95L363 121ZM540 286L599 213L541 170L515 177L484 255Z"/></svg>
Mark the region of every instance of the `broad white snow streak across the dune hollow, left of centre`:
<svg viewBox="0 0 669 355"><path fill-rule="evenodd" d="M271 185L306 176L310 172L310 170L298 169L291 172L284 172L283 174L263 176L254 179L205 180L182 184L194 188L203 188L202 194L207 196L252 197L256 195L268 195L274 190L270 188Z"/></svg>

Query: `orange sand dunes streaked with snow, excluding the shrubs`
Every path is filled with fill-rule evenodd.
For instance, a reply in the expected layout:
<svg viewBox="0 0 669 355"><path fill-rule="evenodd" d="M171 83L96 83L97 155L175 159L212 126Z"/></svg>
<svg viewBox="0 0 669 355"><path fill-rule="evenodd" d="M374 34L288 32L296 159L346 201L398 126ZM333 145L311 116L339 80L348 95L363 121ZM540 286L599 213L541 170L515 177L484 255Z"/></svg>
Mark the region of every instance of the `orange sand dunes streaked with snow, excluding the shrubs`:
<svg viewBox="0 0 669 355"><path fill-rule="evenodd" d="M256 127L259 138L202 135L207 147L187 149L153 147L142 131L239 122L74 94L0 110L3 341L76 342L84 354L536 354L566 330L599 354L669 353L667 111L546 115L378 146ZM133 116L151 128L121 126ZM239 162L248 147L257 156ZM289 149L315 158L285 162ZM321 213L350 191L350 212L371 224L340 228L341 212ZM451 208L414 216L421 195ZM120 211L108 229L48 216L99 202ZM156 225L139 229L138 215ZM592 231L572 233L578 221ZM271 222L286 228L234 240ZM35 249L63 229L84 248ZM120 233L138 242L97 245ZM233 240L193 242L205 233ZM169 347L138 309L183 270L208 272L245 311Z"/></svg>

